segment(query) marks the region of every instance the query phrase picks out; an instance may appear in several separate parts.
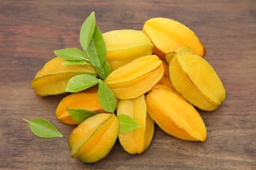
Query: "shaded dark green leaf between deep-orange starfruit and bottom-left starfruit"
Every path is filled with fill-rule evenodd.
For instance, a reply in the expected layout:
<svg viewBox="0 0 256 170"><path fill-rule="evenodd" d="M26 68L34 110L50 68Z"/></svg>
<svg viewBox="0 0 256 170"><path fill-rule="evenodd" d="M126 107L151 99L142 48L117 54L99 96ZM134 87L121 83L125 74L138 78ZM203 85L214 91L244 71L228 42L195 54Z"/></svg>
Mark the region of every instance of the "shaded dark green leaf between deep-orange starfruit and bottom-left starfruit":
<svg viewBox="0 0 256 170"><path fill-rule="evenodd" d="M98 114L97 112L93 112L91 110L85 110L85 109L66 109L70 116L75 120L75 122L81 123L83 120L94 116L95 114Z"/></svg>

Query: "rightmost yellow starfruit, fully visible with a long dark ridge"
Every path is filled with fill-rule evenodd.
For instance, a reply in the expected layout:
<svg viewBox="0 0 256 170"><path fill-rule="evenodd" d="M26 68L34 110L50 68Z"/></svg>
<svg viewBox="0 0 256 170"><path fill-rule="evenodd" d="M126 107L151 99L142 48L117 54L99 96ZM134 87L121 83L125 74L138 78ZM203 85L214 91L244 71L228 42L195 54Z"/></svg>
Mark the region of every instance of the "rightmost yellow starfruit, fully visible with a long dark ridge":
<svg viewBox="0 0 256 170"><path fill-rule="evenodd" d="M221 79L205 59L177 52L169 63L171 82L177 92L202 110L215 110L226 92Z"/></svg>

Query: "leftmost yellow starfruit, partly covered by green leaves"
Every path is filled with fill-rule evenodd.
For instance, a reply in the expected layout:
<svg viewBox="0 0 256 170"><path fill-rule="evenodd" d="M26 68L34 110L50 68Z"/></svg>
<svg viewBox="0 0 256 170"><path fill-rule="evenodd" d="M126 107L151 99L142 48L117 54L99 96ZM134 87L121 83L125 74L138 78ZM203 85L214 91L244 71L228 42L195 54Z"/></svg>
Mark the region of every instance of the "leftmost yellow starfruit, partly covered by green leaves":
<svg viewBox="0 0 256 170"><path fill-rule="evenodd" d="M66 92L68 80L72 76L88 74L96 76L96 71L92 65L61 65L65 59L53 58L43 68L37 72L31 82L35 93L41 96L57 95Z"/></svg>

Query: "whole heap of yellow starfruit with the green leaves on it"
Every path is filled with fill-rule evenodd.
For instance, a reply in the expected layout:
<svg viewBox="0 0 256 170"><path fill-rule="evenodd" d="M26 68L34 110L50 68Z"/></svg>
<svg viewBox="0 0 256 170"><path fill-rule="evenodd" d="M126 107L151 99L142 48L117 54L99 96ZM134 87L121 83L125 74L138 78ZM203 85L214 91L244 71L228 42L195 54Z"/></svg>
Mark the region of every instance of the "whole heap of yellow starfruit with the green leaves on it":
<svg viewBox="0 0 256 170"><path fill-rule="evenodd" d="M41 96L71 92L56 118L77 124L68 143L72 157L98 161L116 139L140 154L154 122L173 137L205 141L198 110L217 109L226 92L196 34L168 18L152 18L141 31L100 33L95 23L92 12L80 30L81 49L55 50L32 80Z"/></svg>

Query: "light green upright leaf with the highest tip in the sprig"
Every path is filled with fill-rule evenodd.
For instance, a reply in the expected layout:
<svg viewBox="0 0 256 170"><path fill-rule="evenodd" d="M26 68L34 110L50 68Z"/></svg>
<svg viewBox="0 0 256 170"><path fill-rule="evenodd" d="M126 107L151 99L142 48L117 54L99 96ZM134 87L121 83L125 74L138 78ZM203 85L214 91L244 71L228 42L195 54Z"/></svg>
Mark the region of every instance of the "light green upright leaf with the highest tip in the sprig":
<svg viewBox="0 0 256 170"><path fill-rule="evenodd" d="M83 50L87 50L89 46L89 42L91 41L91 38L93 37L93 32L95 31L95 25L95 12L91 12L85 22L83 22L83 25L80 29L80 44Z"/></svg>

